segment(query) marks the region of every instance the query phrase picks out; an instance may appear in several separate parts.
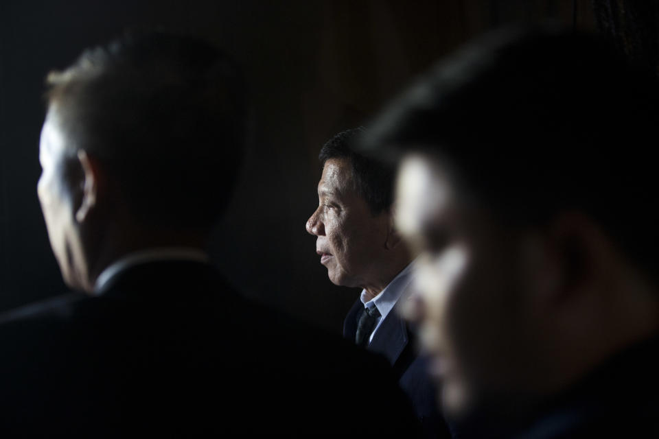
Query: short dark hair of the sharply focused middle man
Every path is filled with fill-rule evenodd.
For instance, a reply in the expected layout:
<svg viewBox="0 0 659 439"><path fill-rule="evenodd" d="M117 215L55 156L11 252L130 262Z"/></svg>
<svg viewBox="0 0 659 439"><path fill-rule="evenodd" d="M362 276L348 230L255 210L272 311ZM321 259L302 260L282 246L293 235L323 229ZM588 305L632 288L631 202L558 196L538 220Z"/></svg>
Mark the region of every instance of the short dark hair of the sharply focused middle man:
<svg viewBox="0 0 659 439"><path fill-rule="evenodd" d="M378 215L389 210L393 201L391 165L380 163L353 150L353 143L363 134L363 128L353 128L336 134L321 148L321 165L330 158L347 158L352 167L355 190L367 202L371 213Z"/></svg>

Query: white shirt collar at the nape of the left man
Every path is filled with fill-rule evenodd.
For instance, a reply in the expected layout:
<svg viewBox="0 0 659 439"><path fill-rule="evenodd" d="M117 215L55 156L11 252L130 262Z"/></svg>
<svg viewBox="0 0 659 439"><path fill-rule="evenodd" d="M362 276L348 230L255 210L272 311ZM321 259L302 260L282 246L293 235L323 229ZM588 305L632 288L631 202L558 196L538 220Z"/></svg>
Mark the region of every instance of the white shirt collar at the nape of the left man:
<svg viewBox="0 0 659 439"><path fill-rule="evenodd" d="M132 252L117 259L108 265L99 276L94 284L94 294L101 294L103 287L127 268L134 267L142 263L153 261L198 261L208 262L208 254L194 247L154 247L138 252Z"/></svg>

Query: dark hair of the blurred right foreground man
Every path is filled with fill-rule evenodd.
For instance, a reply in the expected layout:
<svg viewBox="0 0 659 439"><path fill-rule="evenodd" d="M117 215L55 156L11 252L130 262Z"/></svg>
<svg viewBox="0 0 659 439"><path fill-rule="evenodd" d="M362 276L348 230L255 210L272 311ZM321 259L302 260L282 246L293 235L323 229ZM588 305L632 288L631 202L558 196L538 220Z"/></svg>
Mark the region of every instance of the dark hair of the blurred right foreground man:
<svg viewBox="0 0 659 439"><path fill-rule="evenodd" d="M595 36L490 34L439 64L384 110L366 154L426 152L503 221L586 213L656 271L656 80Z"/></svg>

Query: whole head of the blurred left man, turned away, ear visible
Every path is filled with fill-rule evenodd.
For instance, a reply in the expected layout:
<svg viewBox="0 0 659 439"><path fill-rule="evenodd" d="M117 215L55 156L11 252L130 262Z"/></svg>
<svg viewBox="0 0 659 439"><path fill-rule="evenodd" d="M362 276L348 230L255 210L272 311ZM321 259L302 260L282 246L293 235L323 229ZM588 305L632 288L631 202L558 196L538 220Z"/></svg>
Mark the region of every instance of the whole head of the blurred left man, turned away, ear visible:
<svg viewBox="0 0 659 439"><path fill-rule="evenodd" d="M48 75L38 195L79 289L140 248L201 246L242 161L237 68L203 40L125 34Z"/></svg>

